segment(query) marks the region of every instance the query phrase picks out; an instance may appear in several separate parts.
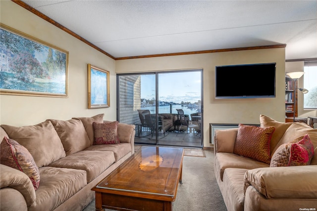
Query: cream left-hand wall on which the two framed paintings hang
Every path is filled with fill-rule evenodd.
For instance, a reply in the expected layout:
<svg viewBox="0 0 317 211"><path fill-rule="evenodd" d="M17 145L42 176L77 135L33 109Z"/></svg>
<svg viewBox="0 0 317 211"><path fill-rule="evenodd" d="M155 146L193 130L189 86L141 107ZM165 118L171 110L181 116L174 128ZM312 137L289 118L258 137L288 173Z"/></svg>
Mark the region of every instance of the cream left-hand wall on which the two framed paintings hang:
<svg viewBox="0 0 317 211"><path fill-rule="evenodd" d="M105 113L105 119L116 119L116 76L113 59L12 1L1 0L0 9L1 23L69 52L68 98L0 95L1 124L31 125L48 118L67 120L98 113ZM110 71L109 108L88 109L88 63Z"/></svg>

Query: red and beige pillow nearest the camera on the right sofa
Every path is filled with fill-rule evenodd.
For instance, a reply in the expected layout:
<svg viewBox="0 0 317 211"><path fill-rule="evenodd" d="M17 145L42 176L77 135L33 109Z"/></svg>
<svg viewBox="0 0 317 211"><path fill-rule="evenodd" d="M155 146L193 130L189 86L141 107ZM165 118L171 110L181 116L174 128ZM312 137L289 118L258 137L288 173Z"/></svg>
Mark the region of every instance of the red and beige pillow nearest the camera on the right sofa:
<svg viewBox="0 0 317 211"><path fill-rule="evenodd" d="M314 156L314 145L308 134L277 148L269 167L309 165Z"/></svg>

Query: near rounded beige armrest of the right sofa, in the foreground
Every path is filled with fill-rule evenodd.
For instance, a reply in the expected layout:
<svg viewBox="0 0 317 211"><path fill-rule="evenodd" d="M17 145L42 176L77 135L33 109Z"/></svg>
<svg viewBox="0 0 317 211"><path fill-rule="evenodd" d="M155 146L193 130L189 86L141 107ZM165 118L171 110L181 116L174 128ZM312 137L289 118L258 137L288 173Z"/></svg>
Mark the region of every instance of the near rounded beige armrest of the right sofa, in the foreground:
<svg viewBox="0 0 317 211"><path fill-rule="evenodd" d="M244 175L244 194L252 185L267 199L317 199L317 165L265 167Z"/></svg>

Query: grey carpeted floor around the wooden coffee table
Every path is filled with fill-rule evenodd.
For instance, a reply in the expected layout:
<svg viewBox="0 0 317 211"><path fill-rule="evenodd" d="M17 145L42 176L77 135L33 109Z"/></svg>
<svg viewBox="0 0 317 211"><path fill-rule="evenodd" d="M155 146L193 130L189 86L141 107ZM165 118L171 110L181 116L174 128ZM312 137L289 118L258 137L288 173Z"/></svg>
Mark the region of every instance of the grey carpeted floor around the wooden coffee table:
<svg viewBox="0 0 317 211"><path fill-rule="evenodd" d="M204 152L206 157L183 158L183 184L178 185L173 211L227 210L214 176L213 151ZM83 211L95 211L95 201Z"/></svg>

